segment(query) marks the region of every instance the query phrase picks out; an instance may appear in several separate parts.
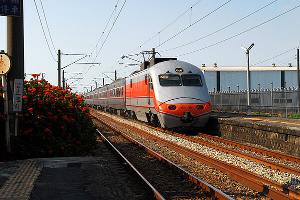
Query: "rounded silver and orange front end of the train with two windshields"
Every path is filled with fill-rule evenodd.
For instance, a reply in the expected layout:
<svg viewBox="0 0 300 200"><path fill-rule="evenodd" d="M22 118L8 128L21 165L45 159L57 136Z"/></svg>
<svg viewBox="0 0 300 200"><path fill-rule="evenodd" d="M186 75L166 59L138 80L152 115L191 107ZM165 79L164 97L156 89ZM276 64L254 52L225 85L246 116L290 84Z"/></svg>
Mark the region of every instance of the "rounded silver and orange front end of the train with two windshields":
<svg viewBox="0 0 300 200"><path fill-rule="evenodd" d="M164 61L149 68L154 106L160 124L169 129L202 128L211 112L203 73L183 61Z"/></svg>

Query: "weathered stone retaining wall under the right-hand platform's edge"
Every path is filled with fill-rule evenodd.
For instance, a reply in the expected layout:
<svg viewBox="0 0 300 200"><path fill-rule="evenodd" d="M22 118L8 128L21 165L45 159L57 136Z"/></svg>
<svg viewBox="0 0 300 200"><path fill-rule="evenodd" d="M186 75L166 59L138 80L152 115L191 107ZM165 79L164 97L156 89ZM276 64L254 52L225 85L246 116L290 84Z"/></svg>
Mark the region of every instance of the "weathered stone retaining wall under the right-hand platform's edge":
<svg viewBox="0 0 300 200"><path fill-rule="evenodd" d="M236 142L248 142L300 157L300 131L297 128L210 117L205 132Z"/></svg>

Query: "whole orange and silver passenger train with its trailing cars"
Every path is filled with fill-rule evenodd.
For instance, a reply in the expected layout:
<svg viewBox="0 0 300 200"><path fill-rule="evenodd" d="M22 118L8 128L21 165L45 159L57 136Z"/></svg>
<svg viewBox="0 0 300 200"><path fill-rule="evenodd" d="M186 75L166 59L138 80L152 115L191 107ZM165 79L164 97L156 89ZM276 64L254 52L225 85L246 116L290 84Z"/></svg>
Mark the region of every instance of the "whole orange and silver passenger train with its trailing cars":
<svg viewBox="0 0 300 200"><path fill-rule="evenodd" d="M178 60L158 62L83 96L97 109L166 129L202 128L211 112L202 71Z"/></svg>

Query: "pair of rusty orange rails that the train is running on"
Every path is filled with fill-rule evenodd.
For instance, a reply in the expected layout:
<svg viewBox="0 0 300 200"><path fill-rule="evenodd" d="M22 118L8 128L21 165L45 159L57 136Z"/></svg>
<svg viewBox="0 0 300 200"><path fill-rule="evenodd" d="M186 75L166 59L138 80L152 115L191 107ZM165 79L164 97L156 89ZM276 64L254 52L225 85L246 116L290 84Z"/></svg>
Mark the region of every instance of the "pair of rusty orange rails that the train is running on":
<svg viewBox="0 0 300 200"><path fill-rule="evenodd" d="M129 127L128 127L129 128ZM131 130L132 129L136 129L136 128L130 128ZM166 131L164 131L166 132ZM182 135L177 135L175 133L172 133L172 132L169 132L168 134L172 135L172 136L176 136L176 137L181 137L181 138L185 138L185 140L189 140L189 141L194 141L194 142L198 142L202 145L206 145L206 146L210 146L212 148L216 148L216 149L219 149L220 151L224 151L224 152L230 152L230 154L235 154L236 156L241 156L241 157L247 157L248 159L256 159L255 162L259 161L259 162L264 162L260 159L257 159L257 158L253 158L251 156L247 156L247 155L244 155L244 154L239 154L238 152L235 152L235 151L232 151L232 150L228 150L228 149L223 149L223 148L220 148L219 146L215 146L213 147L211 144L207 144L207 143L203 143L203 141L195 141L195 139L193 138L190 138L190 137L186 137L186 136L182 136ZM249 188L252 188L272 199L294 199L294 198L300 198L300 195L299 195L299 191L298 190L295 190L291 187L286 187L286 186L283 186L282 184L278 184L277 182L275 181L271 181L271 180L268 180L266 178L263 178L263 177L259 177L257 176L256 174L254 173L251 173L247 170L243 170L241 168L238 168L238 167L235 167L235 166L232 166L232 165L229 165L225 162L220 162L219 160L217 159L207 159L207 156L206 155L201 155L199 154L198 152L194 152L190 149L187 149L187 148L182 148L180 147L180 145L175 145L175 144L172 144L172 143L169 143L168 141L164 140L164 139L161 139L159 137L156 137L156 136L153 136L153 135L147 135L146 133L143 133L143 135L151 140L154 140L156 142L159 142L161 144L164 144L166 145L168 148L171 148L171 149L174 149L175 151L178 151L180 153L183 153L185 155L188 155L194 159L196 159L197 161L201 162L201 163L204 163L206 165L210 165L214 168L216 168L217 170L219 171L222 171L224 173L227 173L227 175L232 178L233 180L236 180L238 181L239 183L242 183L246 186L248 186ZM269 166L270 164L272 163L269 163L269 162L265 162L265 164L267 166ZM274 169L279 169L279 167L282 167L280 165L276 165L276 164L272 164L273 168ZM286 169L289 169L289 168L280 168L281 170L286 170ZM293 172L293 169L289 169L290 172ZM295 173L297 170L295 170ZM271 187L268 187L268 186L271 186ZM273 189L274 188L277 188L278 190L284 192L280 192L278 190L275 190Z"/></svg>

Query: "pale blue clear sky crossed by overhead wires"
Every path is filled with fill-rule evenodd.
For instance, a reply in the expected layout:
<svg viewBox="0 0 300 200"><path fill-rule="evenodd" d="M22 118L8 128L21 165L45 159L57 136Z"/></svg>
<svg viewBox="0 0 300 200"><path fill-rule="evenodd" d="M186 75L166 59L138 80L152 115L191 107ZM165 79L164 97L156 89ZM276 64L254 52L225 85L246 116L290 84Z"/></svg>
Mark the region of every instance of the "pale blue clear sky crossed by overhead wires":
<svg viewBox="0 0 300 200"><path fill-rule="evenodd" d="M94 61L101 63L100 66L72 64L65 68L65 72L81 73L74 78L82 79L68 80L67 83L72 83L70 87L82 93L90 89L89 84L94 83L92 79L106 77L101 72L105 72L107 76L114 79L114 74L109 72L116 70L117 78L122 78L139 69L138 66L119 64L131 63L131 60L126 58L122 60L120 57L138 54L140 51L150 51L153 47L162 57L181 55L177 57L178 60L196 66L201 66L202 63L205 63L206 66L212 66L213 63L217 63L218 66L245 66L245 52L240 45L248 47L251 43L255 44L250 50L250 65L300 45L300 7L252 30L218 43L300 5L298 0L277 0L215 34L189 45L175 48L213 33L273 0L231 0L209 14L227 1L35 0L53 58L44 38L34 1L24 0L25 73L45 73L45 79L51 84L57 85L57 49L61 49L61 53L92 54L80 62ZM49 38L40 2L44 8L54 47ZM185 11L185 14L166 27ZM207 16L201 19L205 15ZM104 37L102 37L106 24ZM186 30L182 31L185 28ZM0 30L0 50L6 51L5 16L0 16ZM110 33L107 36L109 30ZM180 31L182 32L176 35ZM168 40L169 38L171 39ZM105 42L102 43L104 40ZM99 42L96 46L97 41ZM212 44L215 45L210 46ZM171 48L175 49L168 50ZM101 50L99 51L99 49ZM198 51L186 54L195 50ZM255 66L271 66L272 63L276 63L277 66L287 66L288 62L296 66L295 54L296 49L293 49ZM80 56L62 55L61 67L79 58ZM131 56L131 58L141 60L140 56ZM74 75L66 74L66 78L69 79ZM102 83L102 81L97 82ZM110 82L109 78L105 78L105 83Z"/></svg>

